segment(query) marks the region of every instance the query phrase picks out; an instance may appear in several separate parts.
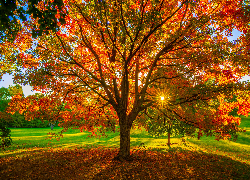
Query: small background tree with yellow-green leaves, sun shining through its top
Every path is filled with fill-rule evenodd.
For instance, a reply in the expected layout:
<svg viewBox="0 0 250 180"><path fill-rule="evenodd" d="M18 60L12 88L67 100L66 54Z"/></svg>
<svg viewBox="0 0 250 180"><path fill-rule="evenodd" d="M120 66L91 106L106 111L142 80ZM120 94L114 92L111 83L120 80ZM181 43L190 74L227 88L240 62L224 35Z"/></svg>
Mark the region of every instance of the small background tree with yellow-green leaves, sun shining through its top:
<svg viewBox="0 0 250 180"><path fill-rule="evenodd" d="M180 97L177 95L178 90L175 86L171 85L167 80L162 80L158 84L155 84L156 89L161 89L158 93L158 99L160 99L160 105L151 106L145 111L145 113L137 118L137 121L146 122L146 130L153 137L160 137L167 135L168 137L168 146L170 147L170 137L171 136L179 136L182 138L184 136L192 136L194 137L194 133L196 131L195 126L193 124L186 123L181 121L178 117L173 116L172 113L169 113L168 110L168 101L170 100L169 93L176 94L176 99L178 100ZM172 86L172 87L171 87ZM164 88L167 87L167 88ZM200 104L199 101L195 101L195 103L184 104L185 108L189 108L188 111L195 113L195 107L197 104ZM165 107L166 105L166 107ZM183 106L183 107L184 107Z"/></svg>

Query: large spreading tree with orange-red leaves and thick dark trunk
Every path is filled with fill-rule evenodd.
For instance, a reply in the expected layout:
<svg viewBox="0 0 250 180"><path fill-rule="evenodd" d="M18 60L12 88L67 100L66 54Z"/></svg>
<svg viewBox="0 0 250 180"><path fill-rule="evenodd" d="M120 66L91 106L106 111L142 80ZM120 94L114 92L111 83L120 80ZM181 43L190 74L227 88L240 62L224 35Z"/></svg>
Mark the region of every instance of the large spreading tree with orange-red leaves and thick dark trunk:
<svg viewBox="0 0 250 180"><path fill-rule="evenodd" d="M64 130L75 126L93 135L99 126L119 125L119 160L130 158L130 130L147 126L139 117L160 106L161 94L168 97L166 114L200 135L213 132L220 139L239 131L240 119L229 116L225 104L218 111L200 104L249 94L249 84L239 81L250 70L249 8L243 0L63 2L66 23L57 21L56 32L33 39L39 23L33 17L6 51L15 51L14 59L27 68L15 73L15 82L47 93L39 100L13 97L10 112L19 110L27 119L48 113ZM39 4L40 12L45 9ZM233 29L243 34L230 42ZM159 85L163 80L171 86ZM244 101L234 106L249 112Z"/></svg>

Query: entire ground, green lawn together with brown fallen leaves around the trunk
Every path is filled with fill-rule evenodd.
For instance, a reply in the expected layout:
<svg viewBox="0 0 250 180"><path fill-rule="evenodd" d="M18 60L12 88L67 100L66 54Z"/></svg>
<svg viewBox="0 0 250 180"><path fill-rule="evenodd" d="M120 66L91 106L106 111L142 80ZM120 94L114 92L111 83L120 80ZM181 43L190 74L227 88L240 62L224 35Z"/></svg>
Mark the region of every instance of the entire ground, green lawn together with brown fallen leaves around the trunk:
<svg viewBox="0 0 250 180"><path fill-rule="evenodd" d="M134 159L123 163L112 160L119 132L96 139L70 129L50 141L47 133L62 128L11 128L15 144L0 151L0 179L250 179L250 117L242 118L241 127L247 132L236 142L202 137L184 145L175 137L171 149L166 137L132 130Z"/></svg>

